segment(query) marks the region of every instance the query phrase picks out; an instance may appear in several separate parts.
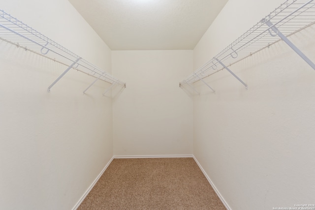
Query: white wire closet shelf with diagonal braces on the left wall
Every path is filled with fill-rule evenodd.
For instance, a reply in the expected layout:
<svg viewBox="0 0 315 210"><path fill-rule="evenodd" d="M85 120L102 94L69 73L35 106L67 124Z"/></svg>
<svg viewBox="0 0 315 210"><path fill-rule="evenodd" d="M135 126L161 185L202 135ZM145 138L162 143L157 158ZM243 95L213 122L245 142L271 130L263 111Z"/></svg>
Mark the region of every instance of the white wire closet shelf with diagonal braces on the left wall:
<svg viewBox="0 0 315 210"><path fill-rule="evenodd" d="M86 90L84 90L83 93L85 93L85 91L87 91L97 80L102 80L112 84L110 88L113 88L115 85L126 87L124 82L116 79L89 61L82 59L78 55L72 53L70 50L67 50L52 39L48 38L37 30L32 29L25 23L17 20L1 9L0 39L14 44L17 47L21 47L25 50L29 50L33 53L44 56L45 58L55 60L68 66L63 74L51 86L48 87L48 92L50 92L52 86L54 86L59 81L59 79L61 79L63 75L71 68L95 77L95 81ZM103 94L110 90L110 88L105 90Z"/></svg>

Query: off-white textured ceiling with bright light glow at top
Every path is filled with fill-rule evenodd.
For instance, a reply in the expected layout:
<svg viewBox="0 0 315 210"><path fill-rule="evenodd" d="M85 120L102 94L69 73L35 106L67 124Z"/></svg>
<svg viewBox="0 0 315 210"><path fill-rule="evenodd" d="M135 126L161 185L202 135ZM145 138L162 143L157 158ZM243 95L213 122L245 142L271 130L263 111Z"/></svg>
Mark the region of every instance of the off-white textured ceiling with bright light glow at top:
<svg viewBox="0 0 315 210"><path fill-rule="evenodd" d="M227 0L69 0L111 50L191 50Z"/></svg>

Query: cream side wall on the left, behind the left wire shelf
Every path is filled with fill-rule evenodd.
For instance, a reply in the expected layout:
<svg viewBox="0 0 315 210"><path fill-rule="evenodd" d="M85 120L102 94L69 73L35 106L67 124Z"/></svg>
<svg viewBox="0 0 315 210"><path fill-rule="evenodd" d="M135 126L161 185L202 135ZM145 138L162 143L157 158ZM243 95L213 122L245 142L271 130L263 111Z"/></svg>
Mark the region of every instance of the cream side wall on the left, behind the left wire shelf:
<svg viewBox="0 0 315 210"><path fill-rule="evenodd" d="M107 72L111 51L67 0L0 0L1 9ZM69 210L113 156L108 87L0 41L0 209Z"/></svg>

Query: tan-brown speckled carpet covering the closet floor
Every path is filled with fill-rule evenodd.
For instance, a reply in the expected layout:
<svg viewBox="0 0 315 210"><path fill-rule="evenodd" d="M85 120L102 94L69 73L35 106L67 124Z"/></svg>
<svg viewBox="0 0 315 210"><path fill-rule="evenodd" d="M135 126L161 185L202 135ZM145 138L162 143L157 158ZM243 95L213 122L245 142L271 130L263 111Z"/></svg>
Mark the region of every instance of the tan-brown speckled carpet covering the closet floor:
<svg viewBox="0 0 315 210"><path fill-rule="evenodd" d="M226 210L193 158L114 159L78 210Z"/></svg>

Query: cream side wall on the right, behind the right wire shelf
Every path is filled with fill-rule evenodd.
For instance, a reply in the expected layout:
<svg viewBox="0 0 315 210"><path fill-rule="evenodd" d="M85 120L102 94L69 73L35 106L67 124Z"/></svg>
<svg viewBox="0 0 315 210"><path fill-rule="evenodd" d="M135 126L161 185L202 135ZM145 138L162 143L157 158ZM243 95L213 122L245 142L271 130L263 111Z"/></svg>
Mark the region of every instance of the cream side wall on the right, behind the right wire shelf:
<svg viewBox="0 0 315 210"><path fill-rule="evenodd" d="M229 0L194 49L194 69L282 0ZM251 17L251 18L248 18ZM290 37L315 62L315 26ZM193 154L232 210L314 203L315 71L284 42L201 82Z"/></svg>

